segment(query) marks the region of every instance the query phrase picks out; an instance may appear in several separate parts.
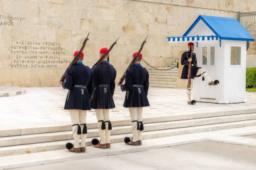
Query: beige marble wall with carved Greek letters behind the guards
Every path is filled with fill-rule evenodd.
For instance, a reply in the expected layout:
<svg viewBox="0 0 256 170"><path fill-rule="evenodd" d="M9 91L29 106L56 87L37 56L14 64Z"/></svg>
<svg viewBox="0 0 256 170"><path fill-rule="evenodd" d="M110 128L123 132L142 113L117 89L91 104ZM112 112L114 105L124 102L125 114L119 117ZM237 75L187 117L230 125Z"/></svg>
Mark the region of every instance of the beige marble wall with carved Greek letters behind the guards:
<svg viewBox="0 0 256 170"><path fill-rule="evenodd" d="M144 59L166 67L186 49L167 36L181 36L199 15L236 18L238 11L256 11L256 1L0 0L0 85L57 86L88 32L89 67L120 37L110 53L119 79L147 34Z"/></svg>

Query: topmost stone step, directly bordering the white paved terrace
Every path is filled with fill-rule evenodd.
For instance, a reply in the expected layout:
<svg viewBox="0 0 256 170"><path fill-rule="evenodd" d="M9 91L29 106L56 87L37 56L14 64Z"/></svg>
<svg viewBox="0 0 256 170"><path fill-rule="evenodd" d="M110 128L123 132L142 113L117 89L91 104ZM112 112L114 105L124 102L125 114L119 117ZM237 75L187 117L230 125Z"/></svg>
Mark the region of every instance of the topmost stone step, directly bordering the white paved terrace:
<svg viewBox="0 0 256 170"><path fill-rule="evenodd" d="M229 110L229 111L219 111L219 112L198 112L196 114L175 114L172 116L162 116L162 117L152 117L152 118L144 118L143 122L145 124L157 123L157 122L170 122L170 121L179 121L179 120L195 120L199 118L216 118L219 116L235 116L235 115L244 115L244 114L254 114L256 113L256 109L248 109L248 110ZM113 127L116 126L126 126L130 125L131 121L127 120L117 120L111 122ZM88 123L88 129L97 128L97 123ZM43 134L49 132L63 132L63 131L71 131L71 126L46 126L46 127L31 127L24 129L11 129L11 130L0 130L0 137L8 137L8 136L22 136L28 134Z"/></svg>

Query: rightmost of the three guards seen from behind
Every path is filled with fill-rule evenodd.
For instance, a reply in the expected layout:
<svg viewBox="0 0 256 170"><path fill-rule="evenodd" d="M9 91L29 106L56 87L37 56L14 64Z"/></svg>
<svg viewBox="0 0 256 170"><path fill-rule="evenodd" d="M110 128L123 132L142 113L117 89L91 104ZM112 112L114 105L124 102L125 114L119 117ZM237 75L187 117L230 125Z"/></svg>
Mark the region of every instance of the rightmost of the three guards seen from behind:
<svg viewBox="0 0 256 170"><path fill-rule="evenodd" d="M133 57L137 55L137 52L133 54ZM125 84L121 85L121 90L126 91L125 102L123 106L129 108L131 116L131 127L133 132L133 138L129 145L137 146L141 145L141 132L143 128L142 112L143 107L149 106L148 102L148 87L149 87L149 75L148 71L141 67L142 54L135 61L133 67L127 69L125 74Z"/></svg>

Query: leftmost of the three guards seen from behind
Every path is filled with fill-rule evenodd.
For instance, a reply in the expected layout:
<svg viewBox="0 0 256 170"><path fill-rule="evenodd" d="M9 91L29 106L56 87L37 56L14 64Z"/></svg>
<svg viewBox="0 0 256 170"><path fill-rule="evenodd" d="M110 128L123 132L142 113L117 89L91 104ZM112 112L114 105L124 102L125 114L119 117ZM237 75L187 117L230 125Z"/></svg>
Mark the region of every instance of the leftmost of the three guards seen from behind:
<svg viewBox="0 0 256 170"><path fill-rule="evenodd" d="M79 51L75 51L76 56ZM89 67L83 65L84 53L79 56L77 64L67 69L66 79L60 82L63 89L68 89L67 99L65 101L65 110L69 110L71 117L73 138L75 144L69 151L75 153L86 152L86 114L91 110L90 95L92 95L92 71ZM79 141L81 138L81 142ZM80 144L81 143L81 144Z"/></svg>

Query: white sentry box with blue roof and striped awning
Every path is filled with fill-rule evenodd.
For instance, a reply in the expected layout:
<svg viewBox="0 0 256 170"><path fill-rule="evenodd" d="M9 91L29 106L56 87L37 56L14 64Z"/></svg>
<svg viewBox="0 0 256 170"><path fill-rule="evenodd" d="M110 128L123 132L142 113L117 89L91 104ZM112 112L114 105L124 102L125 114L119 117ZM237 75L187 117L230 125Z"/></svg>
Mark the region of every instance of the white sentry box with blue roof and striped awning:
<svg viewBox="0 0 256 170"><path fill-rule="evenodd" d="M193 84L196 101L211 103L244 102L247 41L253 36L234 18L199 15L183 36L168 42L194 42L197 66L220 84L209 86L201 77Z"/></svg>

